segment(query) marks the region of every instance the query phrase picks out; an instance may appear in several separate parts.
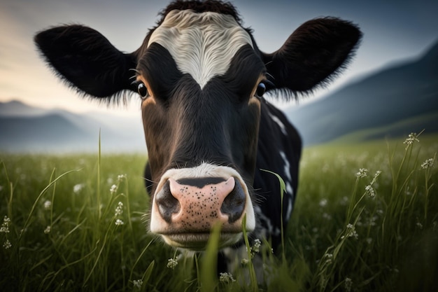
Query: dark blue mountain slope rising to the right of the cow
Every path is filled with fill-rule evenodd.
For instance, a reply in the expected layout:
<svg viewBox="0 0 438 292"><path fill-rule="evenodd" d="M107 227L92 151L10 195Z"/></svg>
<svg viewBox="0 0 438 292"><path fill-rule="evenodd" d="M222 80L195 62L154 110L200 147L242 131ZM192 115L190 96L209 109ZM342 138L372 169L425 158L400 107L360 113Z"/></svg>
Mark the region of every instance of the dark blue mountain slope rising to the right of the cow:
<svg viewBox="0 0 438 292"><path fill-rule="evenodd" d="M438 43L416 60L379 71L285 113L306 145L357 131L362 132L358 140L423 129L438 132Z"/></svg>

